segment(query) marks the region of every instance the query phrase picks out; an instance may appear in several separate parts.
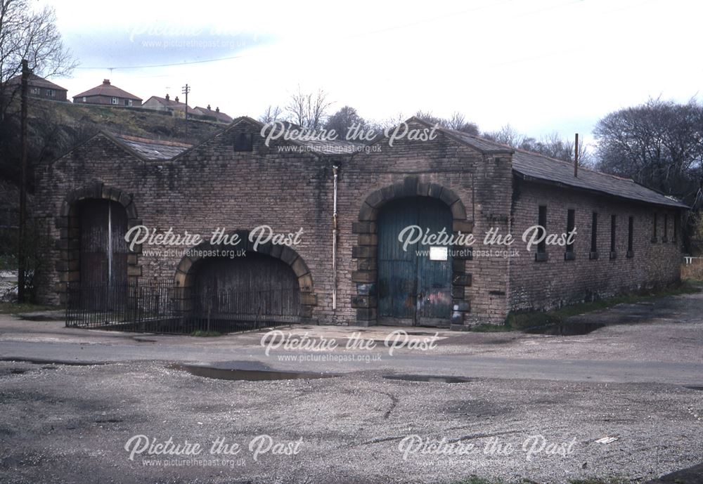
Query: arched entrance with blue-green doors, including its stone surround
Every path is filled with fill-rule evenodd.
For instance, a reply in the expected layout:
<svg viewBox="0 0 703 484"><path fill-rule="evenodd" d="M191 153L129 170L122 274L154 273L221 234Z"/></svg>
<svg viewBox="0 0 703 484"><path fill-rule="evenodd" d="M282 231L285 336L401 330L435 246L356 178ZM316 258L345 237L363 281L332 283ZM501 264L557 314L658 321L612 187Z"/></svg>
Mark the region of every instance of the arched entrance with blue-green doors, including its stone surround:
<svg viewBox="0 0 703 484"><path fill-rule="evenodd" d="M401 225L408 224L423 232L444 229L448 235L470 234L474 225L456 192L425 177L406 176L371 192L352 224L357 235L352 246L357 324L463 325L470 312L467 287L472 275L466 261L472 252L462 246L442 245L440 250L429 242L400 254L397 237Z"/></svg>

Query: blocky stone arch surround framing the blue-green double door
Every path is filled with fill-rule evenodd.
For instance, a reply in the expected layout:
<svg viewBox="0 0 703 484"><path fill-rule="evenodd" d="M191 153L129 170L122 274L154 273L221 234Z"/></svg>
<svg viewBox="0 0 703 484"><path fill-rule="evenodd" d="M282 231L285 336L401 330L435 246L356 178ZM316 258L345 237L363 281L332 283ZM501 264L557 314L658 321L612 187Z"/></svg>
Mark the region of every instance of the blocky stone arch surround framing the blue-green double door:
<svg viewBox="0 0 703 484"><path fill-rule="evenodd" d="M382 207L404 197L431 197L444 202L452 214L453 233L471 233L473 221L467 220L466 207L456 192L439 183L432 183L418 176L406 176L403 181L371 192L361 204L358 221L352 224L356 244L352 246L352 259L356 259L356 270L352 282L356 283L356 294L352 296L352 308L356 308L359 325L372 325L378 317L376 284L378 280L378 230L377 219ZM466 272L466 261L470 251L459 251L452 262L452 325L463 325L464 315L470 310L465 300L465 287L471 285L472 276Z"/></svg>

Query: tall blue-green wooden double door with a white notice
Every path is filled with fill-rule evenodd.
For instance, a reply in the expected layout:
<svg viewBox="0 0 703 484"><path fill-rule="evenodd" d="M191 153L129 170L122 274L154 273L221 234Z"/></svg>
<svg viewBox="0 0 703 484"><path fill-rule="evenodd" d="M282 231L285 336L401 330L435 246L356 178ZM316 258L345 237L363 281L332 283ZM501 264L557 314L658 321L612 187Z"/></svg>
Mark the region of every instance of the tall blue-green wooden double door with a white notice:
<svg viewBox="0 0 703 484"><path fill-rule="evenodd" d="M378 316L390 325L448 325L451 254L430 259L421 242L404 250L399 234L408 225L451 235L451 211L439 200L413 197L387 204L378 218ZM451 248L450 248L451 249Z"/></svg>

